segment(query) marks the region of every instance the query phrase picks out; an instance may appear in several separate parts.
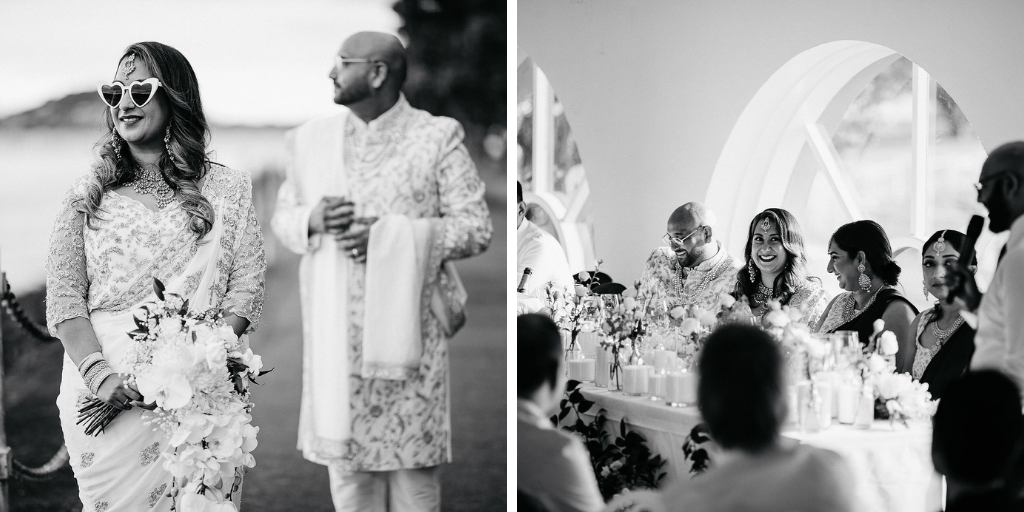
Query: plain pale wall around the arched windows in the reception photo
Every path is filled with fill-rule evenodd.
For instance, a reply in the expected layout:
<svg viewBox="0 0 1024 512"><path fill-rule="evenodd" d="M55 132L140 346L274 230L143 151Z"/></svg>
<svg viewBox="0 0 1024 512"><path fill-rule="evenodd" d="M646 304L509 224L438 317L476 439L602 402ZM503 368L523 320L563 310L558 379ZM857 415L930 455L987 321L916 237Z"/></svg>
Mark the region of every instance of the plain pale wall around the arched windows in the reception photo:
<svg viewBox="0 0 1024 512"><path fill-rule="evenodd" d="M819 44L892 48L949 92L986 150L1024 138L1024 2L519 0L517 23L565 106L597 254L622 283L639 278L669 213L706 199L758 89Z"/></svg>

